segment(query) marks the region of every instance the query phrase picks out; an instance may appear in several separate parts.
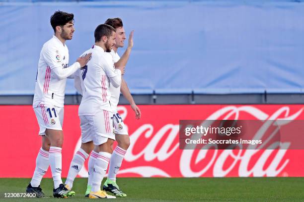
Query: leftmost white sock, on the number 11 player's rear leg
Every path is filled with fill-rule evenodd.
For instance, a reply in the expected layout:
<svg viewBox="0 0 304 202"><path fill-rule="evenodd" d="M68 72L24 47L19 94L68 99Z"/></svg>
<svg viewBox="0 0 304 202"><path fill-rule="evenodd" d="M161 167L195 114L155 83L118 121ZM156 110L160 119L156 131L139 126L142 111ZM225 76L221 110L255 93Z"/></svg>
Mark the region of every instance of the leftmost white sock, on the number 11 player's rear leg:
<svg viewBox="0 0 304 202"><path fill-rule="evenodd" d="M41 183L42 177L45 175L50 165L49 152L40 148L36 158L36 168L33 178L31 180L32 187L38 187Z"/></svg>

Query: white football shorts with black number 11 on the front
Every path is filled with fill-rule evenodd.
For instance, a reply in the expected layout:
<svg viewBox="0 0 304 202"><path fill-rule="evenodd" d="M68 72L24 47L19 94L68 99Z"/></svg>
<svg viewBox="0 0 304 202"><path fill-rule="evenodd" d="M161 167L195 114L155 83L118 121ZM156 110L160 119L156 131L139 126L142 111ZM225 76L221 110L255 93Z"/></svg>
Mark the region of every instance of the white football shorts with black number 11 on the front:
<svg viewBox="0 0 304 202"><path fill-rule="evenodd" d="M39 135L45 135L46 129L62 130L64 107L51 104L39 104L34 108L39 124Z"/></svg>

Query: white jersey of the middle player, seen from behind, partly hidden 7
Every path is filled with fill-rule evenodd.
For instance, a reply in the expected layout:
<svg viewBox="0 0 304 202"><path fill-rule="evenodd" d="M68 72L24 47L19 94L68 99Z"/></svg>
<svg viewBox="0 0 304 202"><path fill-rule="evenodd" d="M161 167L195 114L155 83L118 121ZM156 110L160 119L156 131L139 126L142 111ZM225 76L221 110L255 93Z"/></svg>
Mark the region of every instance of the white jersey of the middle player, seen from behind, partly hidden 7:
<svg viewBox="0 0 304 202"><path fill-rule="evenodd" d="M82 100L78 115L95 115L98 109L112 111L110 98L110 77L121 75L116 70L112 56L101 47L94 45L82 55L92 53L87 65L78 70Z"/></svg>

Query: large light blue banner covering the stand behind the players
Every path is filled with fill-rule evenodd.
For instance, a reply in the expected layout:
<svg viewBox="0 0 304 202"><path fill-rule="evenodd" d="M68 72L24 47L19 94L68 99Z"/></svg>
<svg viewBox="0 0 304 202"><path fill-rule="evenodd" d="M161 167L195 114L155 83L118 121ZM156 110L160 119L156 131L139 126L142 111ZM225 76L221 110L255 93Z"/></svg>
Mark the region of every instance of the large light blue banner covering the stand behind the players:
<svg viewBox="0 0 304 202"><path fill-rule="evenodd" d="M135 30L124 76L135 94L304 90L302 1L2 2L0 95L34 93L56 10L75 14L70 65L94 44L94 29L107 18L122 18L127 38ZM75 93L70 80L66 94Z"/></svg>

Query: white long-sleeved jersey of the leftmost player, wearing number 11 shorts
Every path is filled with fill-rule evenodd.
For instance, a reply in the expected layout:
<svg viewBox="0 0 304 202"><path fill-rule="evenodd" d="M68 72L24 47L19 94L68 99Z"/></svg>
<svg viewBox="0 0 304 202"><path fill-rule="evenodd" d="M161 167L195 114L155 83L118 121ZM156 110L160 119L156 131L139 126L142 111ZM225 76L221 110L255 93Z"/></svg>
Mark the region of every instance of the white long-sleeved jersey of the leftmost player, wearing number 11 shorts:
<svg viewBox="0 0 304 202"><path fill-rule="evenodd" d="M55 68L70 68L69 50L67 45L53 35L53 38L47 41L40 51L33 107L37 107L39 103L64 106L67 78L58 78L54 73ZM76 62L71 68L76 71L80 68L80 64Z"/></svg>

